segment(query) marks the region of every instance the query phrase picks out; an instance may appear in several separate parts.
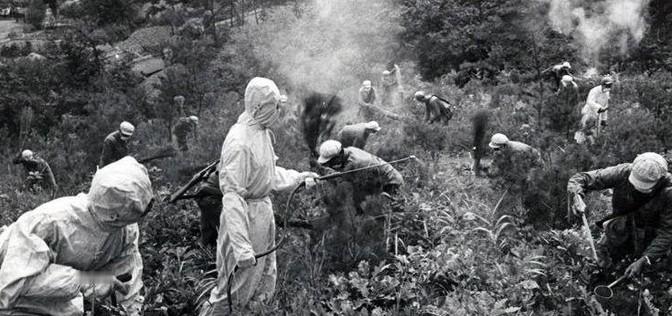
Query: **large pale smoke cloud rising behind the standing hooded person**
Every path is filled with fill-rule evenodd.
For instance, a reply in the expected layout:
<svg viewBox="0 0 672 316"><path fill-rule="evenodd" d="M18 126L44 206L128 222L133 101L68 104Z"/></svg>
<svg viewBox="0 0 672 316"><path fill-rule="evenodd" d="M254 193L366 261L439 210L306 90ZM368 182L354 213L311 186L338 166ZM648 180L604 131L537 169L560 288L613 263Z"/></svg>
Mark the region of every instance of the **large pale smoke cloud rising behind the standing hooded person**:
<svg viewBox="0 0 672 316"><path fill-rule="evenodd" d="M376 84L393 58L401 32L389 0L313 0L269 10L267 23L250 28L258 59L272 65L286 87L338 93L363 80ZM356 91L356 90L355 90ZM341 95L342 93L339 93Z"/></svg>

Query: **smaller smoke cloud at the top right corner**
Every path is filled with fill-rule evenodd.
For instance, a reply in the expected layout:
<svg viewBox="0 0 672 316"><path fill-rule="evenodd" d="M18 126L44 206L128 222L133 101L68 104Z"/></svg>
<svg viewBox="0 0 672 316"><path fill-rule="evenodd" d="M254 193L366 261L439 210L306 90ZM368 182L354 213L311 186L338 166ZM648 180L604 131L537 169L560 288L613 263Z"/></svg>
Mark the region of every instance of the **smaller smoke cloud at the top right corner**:
<svg viewBox="0 0 672 316"><path fill-rule="evenodd" d="M650 0L542 0L550 3L551 26L573 36L588 62L598 62L599 53L616 45L627 54L638 44L648 27L646 13Z"/></svg>

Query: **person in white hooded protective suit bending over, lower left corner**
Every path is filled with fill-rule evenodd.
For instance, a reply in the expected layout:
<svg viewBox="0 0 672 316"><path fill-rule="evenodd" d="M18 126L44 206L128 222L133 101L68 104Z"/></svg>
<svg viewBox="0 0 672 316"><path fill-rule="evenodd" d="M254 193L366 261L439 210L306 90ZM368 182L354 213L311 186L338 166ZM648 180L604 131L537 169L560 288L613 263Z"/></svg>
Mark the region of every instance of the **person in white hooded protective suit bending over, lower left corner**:
<svg viewBox="0 0 672 316"><path fill-rule="evenodd" d="M147 170L125 157L98 170L89 193L0 228L0 315L83 315L91 295L116 295L127 315L140 315L137 222L152 198ZM127 282L116 278L129 273Z"/></svg>

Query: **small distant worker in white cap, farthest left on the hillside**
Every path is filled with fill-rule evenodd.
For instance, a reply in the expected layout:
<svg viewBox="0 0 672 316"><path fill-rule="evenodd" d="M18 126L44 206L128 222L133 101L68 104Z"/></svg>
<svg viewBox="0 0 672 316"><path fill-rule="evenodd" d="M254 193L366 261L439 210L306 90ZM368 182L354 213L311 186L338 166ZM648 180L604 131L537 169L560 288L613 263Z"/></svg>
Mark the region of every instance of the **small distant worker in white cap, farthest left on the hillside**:
<svg viewBox="0 0 672 316"><path fill-rule="evenodd" d="M54 198L58 185L54 172L49 164L42 158L35 155L30 149L25 149L13 160L14 164L21 164L25 171L24 189L33 190L35 186L39 188L48 188L51 190L51 197Z"/></svg>

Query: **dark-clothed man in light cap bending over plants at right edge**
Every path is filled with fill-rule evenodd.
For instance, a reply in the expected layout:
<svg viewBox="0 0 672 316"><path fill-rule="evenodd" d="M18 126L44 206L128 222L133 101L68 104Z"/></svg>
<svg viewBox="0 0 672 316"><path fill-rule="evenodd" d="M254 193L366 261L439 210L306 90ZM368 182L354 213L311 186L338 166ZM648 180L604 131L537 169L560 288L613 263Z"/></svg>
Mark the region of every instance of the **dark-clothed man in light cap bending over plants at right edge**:
<svg viewBox="0 0 672 316"><path fill-rule="evenodd" d="M598 222L601 266L626 256L639 257L625 271L632 277L644 265L663 257L672 246L672 175L656 153L644 153L632 163L577 173L567 184L574 215L585 212L587 191L613 189L612 214Z"/></svg>

